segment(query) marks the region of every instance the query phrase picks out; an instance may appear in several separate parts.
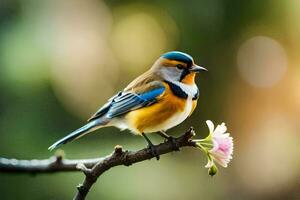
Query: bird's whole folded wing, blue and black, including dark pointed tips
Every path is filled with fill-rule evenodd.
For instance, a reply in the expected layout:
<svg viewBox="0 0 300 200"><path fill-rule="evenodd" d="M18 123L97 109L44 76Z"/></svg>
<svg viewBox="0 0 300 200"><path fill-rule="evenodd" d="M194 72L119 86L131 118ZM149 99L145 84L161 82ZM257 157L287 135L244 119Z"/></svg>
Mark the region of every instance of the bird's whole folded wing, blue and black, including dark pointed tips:
<svg viewBox="0 0 300 200"><path fill-rule="evenodd" d="M104 104L88 121L92 121L102 116L113 118L125 114L131 110L135 110L144 106L151 105L157 101L157 97L165 91L163 84L158 84L151 89L139 92L119 92Z"/></svg>

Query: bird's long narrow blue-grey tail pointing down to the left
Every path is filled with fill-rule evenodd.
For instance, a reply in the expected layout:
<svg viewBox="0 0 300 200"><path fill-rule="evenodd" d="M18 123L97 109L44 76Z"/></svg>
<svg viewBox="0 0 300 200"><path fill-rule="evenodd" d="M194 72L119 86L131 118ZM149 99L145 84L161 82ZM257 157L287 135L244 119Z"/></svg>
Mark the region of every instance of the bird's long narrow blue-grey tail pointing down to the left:
<svg viewBox="0 0 300 200"><path fill-rule="evenodd" d="M85 134L92 132L95 129L100 128L101 126L104 126L105 124L106 124L106 122L104 122L104 120L101 120L101 119L96 119L94 121L91 121L91 122L87 123L86 125L84 125L83 127L77 129L76 131L73 131L66 137L63 137L62 139L60 139L57 142L55 142L54 144L52 144L48 148L48 150L52 151L53 149L55 149L63 144L66 144L68 142L71 142L73 140L76 140L76 139L84 136Z"/></svg>

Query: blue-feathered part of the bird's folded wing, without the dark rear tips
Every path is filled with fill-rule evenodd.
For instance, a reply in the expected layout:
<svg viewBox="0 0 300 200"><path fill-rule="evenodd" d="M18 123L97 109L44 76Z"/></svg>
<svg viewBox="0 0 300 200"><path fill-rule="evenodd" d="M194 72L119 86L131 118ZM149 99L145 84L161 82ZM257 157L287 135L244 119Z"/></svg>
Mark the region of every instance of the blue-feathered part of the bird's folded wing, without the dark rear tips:
<svg viewBox="0 0 300 200"><path fill-rule="evenodd" d="M165 87L159 87L149 90L144 93L135 94L132 92L124 93L114 99L110 109L107 112L107 117L113 118L125 114L131 110L149 106L157 101L156 97L165 91Z"/></svg>

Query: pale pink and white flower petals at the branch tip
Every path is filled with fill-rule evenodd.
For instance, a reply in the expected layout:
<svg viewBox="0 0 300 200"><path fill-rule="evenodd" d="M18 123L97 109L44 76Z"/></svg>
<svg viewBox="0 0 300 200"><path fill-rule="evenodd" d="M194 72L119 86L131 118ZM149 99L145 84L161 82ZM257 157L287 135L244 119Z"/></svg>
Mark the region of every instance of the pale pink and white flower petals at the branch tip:
<svg viewBox="0 0 300 200"><path fill-rule="evenodd" d="M227 127L225 126L225 123L218 125L216 129L214 129L212 121L207 120L206 124L209 128L209 136L205 141L211 141L212 148L208 150L209 158L205 167L211 168L214 165L214 160L221 166L227 167L232 159L233 138L230 137L229 133L226 133Z"/></svg>

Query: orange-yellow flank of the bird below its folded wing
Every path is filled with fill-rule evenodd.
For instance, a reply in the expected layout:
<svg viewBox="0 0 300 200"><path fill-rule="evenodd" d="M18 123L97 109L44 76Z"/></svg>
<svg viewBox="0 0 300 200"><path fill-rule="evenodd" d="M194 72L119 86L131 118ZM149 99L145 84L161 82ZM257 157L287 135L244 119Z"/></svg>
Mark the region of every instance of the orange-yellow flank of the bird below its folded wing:
<svg viewBox="0 0 300 200"><path fill-rule="evenodd" d="M134 132L142 133L145 131L155 132L163 130L163 127L160 127L161 124L174 114L184 112L186 99L175 96L168 84L164 85L166 90L158 97L157 103L131 111L126 115L126 120Z"/></svg>

